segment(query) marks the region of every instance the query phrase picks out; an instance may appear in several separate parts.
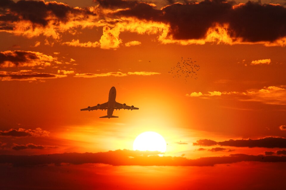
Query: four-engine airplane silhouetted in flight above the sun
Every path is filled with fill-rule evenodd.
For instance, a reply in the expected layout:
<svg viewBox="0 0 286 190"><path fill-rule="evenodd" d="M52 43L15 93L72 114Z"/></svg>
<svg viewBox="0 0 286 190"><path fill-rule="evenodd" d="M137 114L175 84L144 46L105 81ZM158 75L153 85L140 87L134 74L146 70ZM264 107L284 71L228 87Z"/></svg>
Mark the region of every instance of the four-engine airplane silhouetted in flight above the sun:
<svg viewBox="0 0 286 190"><path fill-rule="evenodd" d="M115 87L111 87L110 91L109 91L109 95L108 95L108 102L105 102L103 104L97 104L96 106L88 106L87 108L84 109L80 109L80 111L93 111L93 110L107 110L107 116L101 116L99 118L117 118L118 116L113 116L113 111L114 109L116 110L120 110L120 109L127 109L127 110L139 110L139 108L135 108L133 105L132 106L128 106L125 103L124 104L120 104L118 102L115 101L116 98L116 89Z"/></svg>

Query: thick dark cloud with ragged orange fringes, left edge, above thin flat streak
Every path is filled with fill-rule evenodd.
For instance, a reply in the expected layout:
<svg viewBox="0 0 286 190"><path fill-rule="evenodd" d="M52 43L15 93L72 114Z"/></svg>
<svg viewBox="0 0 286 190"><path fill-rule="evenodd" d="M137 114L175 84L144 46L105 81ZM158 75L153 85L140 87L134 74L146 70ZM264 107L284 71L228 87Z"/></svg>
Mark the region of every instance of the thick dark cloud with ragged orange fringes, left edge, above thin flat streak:
<svg viewBox="0 0 286 190"><path fill-rule="evenodd" d="M57 60L56 57L40 52L4 51L0 52L0 67L34 67L49 66Z"/></svg>

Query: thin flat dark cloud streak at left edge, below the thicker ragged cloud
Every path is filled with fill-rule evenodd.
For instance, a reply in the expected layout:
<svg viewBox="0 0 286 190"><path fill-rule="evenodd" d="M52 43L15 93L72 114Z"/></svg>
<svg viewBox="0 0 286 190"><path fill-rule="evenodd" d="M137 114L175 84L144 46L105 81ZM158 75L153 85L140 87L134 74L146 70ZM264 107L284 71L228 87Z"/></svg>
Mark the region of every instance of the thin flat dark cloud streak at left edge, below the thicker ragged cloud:
<svg viewBox="0 0 286 190"><path fill-rule="evenodd" d="M36 81L38 79L55 79L62 77L67 77L67 75L37 73L37 72L22 73L22 72L0 71L0 81L12 81L12 80Z"/></svg>

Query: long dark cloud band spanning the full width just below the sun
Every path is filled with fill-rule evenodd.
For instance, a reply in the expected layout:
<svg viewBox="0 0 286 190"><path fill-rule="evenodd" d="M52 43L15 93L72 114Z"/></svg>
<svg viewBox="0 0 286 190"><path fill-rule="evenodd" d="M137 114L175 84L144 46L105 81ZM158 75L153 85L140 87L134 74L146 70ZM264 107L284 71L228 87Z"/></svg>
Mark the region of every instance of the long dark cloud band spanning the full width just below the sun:
<svg viewBox="0 0 286 190"><path fill-rule="evenodd" d="M187 159L184 157L158 156L159 152L116 150L98 153L63 153L50 155L0 155L0 163L13 166L36 166L60 163L104 163L113 166L214 166L242 161L286 162L286 156L231 154L223 157Z"/></svg>

